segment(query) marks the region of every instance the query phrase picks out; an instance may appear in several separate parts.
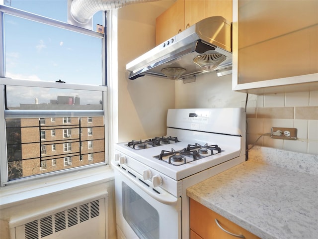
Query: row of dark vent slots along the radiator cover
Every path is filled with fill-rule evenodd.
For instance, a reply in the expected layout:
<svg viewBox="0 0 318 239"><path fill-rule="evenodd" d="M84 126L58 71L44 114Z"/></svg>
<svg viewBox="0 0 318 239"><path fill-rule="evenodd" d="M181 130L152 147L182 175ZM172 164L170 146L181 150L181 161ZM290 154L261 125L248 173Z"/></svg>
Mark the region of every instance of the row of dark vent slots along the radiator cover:
<svg viewBox="0 0 318 239"><path fill-rule="evenodd" d="M40 239L100 215L100 201L67 209L62 212L24 224L25 239Z"/></svg>

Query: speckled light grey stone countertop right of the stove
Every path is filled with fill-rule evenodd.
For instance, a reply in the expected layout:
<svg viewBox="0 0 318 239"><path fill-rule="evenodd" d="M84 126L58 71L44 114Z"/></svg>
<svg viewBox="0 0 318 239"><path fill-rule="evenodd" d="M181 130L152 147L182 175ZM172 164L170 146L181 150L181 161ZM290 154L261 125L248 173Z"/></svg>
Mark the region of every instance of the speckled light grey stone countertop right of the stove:
<svg viewBox="0 0 318 239"><path fill-rule="evenodd" d="M255 147L248 161L188 188L187 196L262 239L316 239L317 171L317 155Z"/></svg>

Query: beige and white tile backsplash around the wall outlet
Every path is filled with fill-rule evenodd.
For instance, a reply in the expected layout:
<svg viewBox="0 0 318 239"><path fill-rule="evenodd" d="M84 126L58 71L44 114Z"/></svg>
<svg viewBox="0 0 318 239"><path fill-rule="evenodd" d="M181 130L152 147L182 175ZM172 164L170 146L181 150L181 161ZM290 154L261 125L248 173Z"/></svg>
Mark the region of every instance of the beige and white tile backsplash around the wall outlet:
<svg viewBox="0 0 318 239"><path fill-rule="evenodd" d="M318 154L318 91L257 96L257 107L248 107L246 118L248 144L271 127L290 127L297 128L297 140L263 136L256 145Z"/></svg>

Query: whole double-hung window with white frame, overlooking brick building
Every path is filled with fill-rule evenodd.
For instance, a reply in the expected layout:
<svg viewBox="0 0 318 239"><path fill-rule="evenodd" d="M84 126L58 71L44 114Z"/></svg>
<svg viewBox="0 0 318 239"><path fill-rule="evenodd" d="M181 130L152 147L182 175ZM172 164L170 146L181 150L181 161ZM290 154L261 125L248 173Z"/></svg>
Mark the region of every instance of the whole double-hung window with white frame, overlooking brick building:
<svg viewBox="0 0 318 239"><path fill-rule="evenodd" d="M55 17L67 15L62 9L68 2L5 0L1 5L0 132L6 132L0 134L1 186L108 164L108 139L99 134L107 134L106 35ZM98 24L105 25L105 12L98 15ZM80 162L87 149L79 145L87 136L76 132L87 127L86 118L102 135L93 138L93 163ZM46 167L48 160L54 167Z"/></svg>

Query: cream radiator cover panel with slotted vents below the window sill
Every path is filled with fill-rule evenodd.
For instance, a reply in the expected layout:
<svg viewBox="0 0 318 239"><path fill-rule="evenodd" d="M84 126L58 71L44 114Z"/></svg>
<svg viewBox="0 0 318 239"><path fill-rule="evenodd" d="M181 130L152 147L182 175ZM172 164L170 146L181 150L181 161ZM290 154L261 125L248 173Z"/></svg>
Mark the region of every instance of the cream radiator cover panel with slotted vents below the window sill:
<svg viewBox="0 0 318 239"><path fill-rule="evenodd" d="M106 239L106 200L73 205L17 226L15 239Z"/></svg>

